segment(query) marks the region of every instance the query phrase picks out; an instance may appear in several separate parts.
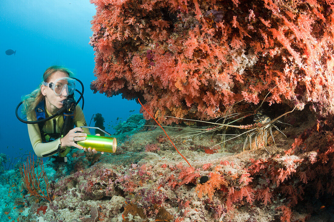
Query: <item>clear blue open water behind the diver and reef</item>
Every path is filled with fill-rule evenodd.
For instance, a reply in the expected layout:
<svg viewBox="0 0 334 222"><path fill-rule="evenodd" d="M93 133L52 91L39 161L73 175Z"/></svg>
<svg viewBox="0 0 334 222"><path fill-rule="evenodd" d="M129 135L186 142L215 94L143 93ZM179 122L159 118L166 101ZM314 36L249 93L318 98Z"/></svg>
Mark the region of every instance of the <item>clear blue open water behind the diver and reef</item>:
<svg viewBox="0 0 334 222"><path fill-rule="evenodd" d="M94 51L89 45L95 13L95 5L88 0L0 1L0 153L17 157L32 151L27 126L17 120L15 108L22 95L38 86L51 65L69 68L83 82L83 111L88 124L93 114L101 113L106 130L113 133L113 125L139 113L140 105L135 101L124 100L121 95L107 98L90 89L95 80ZM16 50L15 56L6 55L8 49Z"/></svg>

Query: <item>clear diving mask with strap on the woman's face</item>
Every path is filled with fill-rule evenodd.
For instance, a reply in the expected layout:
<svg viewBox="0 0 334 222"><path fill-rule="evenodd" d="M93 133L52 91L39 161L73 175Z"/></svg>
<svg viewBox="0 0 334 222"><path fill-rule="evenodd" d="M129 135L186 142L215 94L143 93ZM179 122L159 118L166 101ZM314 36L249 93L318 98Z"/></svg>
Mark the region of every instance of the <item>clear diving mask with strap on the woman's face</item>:
<svg viewBox="0 0 334 222"><path fill-rule="evenodd" d="M71 95L75 90L75 80L68 77L57 79L54 83L43 81L42 84L53 89L56 96L60 96L64 90L66 90L65 92L67 92L68 95Z"/></svg>

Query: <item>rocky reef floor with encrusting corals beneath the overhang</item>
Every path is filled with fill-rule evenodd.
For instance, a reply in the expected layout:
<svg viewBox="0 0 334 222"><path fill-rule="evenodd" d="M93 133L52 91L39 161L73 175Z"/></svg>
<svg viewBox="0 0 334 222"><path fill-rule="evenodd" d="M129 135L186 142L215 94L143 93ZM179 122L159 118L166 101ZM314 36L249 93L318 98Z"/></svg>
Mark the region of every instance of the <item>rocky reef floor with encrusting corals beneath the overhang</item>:
<svg viewBox="0 0 334 222"><path fill-rule="evenodd" d="M245 137L215 146L218 132L185 134L207 126L166 127L191 167L159 127L118 135L113 154L73 150L65 166L46 159L51 202L21 189L19 168L5 171L1 221L334 221L331 125L305 110L282 121L292 125L280 128L286 137L274 130L275 144L268 134L266 149L253 138L245 151Z"/></svg>

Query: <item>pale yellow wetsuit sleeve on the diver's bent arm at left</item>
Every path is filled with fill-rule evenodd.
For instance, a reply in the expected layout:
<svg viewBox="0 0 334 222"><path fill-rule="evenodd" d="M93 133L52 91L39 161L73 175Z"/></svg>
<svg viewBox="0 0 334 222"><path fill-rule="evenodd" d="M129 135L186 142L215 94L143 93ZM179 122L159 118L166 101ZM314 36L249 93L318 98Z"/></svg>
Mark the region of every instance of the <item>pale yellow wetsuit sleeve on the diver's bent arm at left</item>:
<svg viewBox="0 0 334 222"><path fill-rule="evenodd" d="M29 119L28 121L36 121L35 119ZM38 124L27 124L28 133L32 148L38 157L47 157L57 153L57 149L60 145L60 139L56 139L52 142L43 143L42 137L39 132Z"/></svg>

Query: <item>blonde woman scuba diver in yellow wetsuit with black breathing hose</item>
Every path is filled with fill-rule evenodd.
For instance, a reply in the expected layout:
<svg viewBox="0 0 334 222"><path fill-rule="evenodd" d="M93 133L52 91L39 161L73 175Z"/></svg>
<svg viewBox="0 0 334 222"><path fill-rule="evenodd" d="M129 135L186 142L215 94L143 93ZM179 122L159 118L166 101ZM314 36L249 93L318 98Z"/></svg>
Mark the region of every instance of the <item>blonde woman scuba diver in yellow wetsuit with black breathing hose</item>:
<svg viewBox="0 0 334 222"><path fill-rule="evenodd" d="M66 164L66 154L70 147L90 153L97 153L95 149L83 148L77 142L86 140L90 135L83 111L78 104L83 99L83 85L80 93L75 89L73 73L61 66L51 66L43 74L43 81L30 94L23 96L22 113L27 116L30 142L38 157L52 156L54 163ZM75 102L74 91L80 93L80 99ZM82 104L83 107L83 104ZM74 127L75 126L75 127ZM100 136L100 134L96 134ZM58 156L55 154L58 153ZM103 154L103 152L101 152Z"/></svg>

